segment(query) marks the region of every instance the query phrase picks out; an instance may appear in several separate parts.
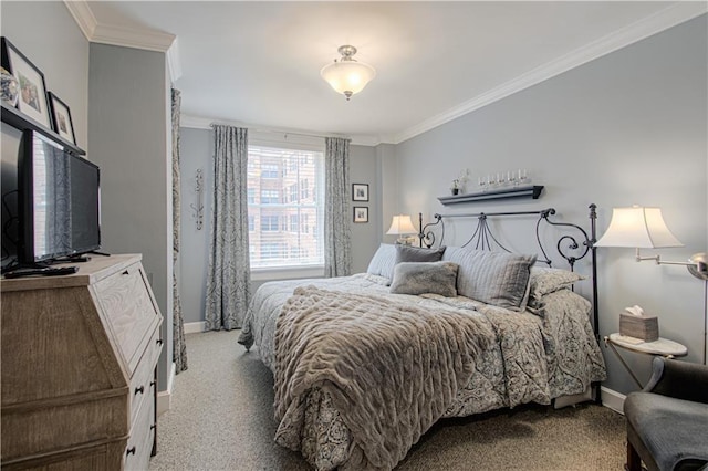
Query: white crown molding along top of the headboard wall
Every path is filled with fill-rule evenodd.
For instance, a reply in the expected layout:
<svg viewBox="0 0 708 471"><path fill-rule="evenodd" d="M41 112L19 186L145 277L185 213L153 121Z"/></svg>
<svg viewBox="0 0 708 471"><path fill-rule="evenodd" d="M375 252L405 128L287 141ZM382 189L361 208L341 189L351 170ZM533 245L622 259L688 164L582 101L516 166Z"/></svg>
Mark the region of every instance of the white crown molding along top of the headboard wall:
<svg viewBox="0 0 708 471"><path fill-rule="evenodd" d="M476 96L447 112L433 116L415 126L389 136L392 144L399 144L419 134L436 128L455 118L464 116L499 100L506 98L517 92L533 86L540 82L552 78L556 75L583 65L590 61L610 54L618 49L638 42L650 35L699 17L708 11L708 3L705 1L681 1L665 8L643 20L628 27L607 34L597 41L579 48L565 55L548 62L532 71L506 82L490 91Z"/></svg>

